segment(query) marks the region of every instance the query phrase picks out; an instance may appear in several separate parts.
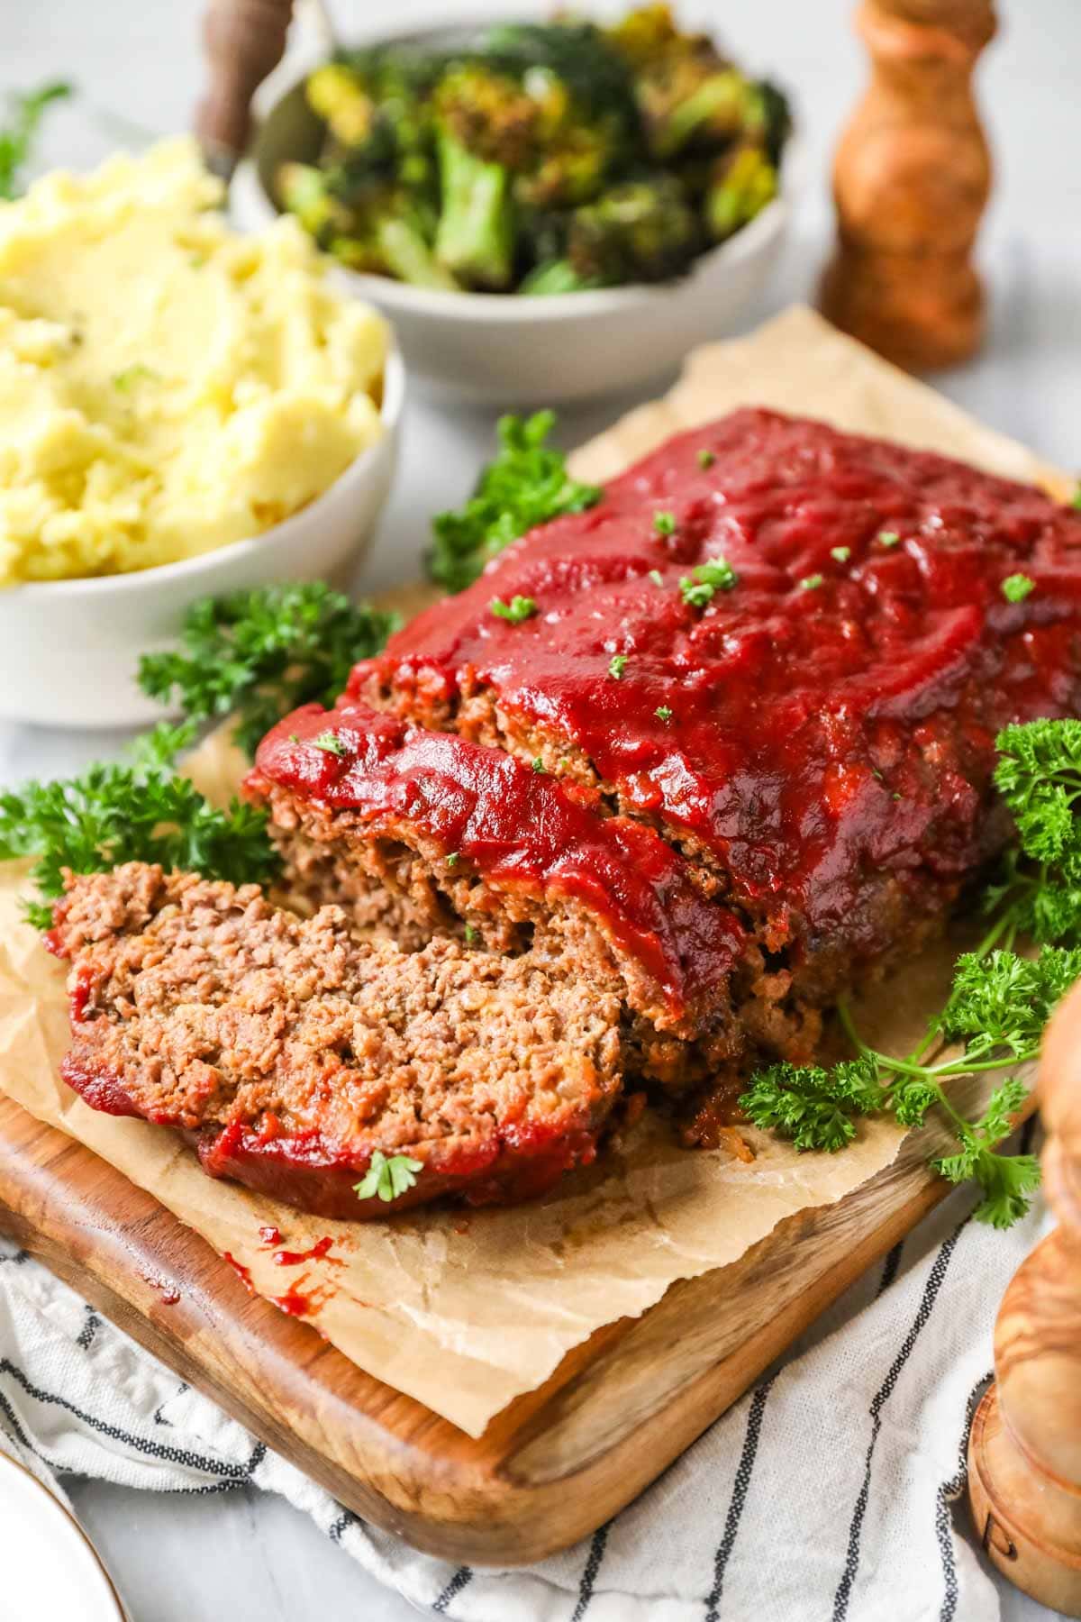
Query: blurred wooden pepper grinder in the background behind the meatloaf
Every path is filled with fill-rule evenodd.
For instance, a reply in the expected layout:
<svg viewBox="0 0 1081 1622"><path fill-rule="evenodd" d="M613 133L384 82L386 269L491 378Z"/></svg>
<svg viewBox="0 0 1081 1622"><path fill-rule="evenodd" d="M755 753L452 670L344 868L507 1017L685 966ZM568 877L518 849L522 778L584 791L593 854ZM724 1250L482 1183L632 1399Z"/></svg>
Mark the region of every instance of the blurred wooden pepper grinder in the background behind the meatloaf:
<svg viewBox="0 0 1081 1622"><path fill-rule="evenodd" d="M984 333L972 245L990 154L972 99L992 0L865 0L872 81L833 165L838 245L820 289L835 326L912 371L964 360Z"/></svg>

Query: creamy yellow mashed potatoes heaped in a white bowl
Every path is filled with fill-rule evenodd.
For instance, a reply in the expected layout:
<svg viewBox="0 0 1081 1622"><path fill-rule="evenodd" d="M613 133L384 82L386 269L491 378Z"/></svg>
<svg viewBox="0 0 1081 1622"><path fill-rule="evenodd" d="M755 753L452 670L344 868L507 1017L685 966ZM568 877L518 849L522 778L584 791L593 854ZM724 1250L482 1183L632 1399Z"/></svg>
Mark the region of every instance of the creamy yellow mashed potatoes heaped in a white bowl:
<svg viewBox="0 0 1081 1622"><path fill-rule="evenodd" d="M0 203L0 586L256 535L379 436L384 323L219 203L188 141Z"/></svg>

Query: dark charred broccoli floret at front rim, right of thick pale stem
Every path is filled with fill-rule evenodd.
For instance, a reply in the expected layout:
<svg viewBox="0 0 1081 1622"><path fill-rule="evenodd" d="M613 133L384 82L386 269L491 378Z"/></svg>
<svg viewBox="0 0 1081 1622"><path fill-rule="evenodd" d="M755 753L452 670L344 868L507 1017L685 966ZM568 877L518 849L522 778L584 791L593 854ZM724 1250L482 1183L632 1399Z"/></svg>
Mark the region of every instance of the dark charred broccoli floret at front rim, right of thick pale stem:
<svg viewBox="0 0 1081 1622"><path fill-rule="evenodd" d="M655 174L611 187L574 211L567 258L577 276L600 282L663 282L702 250L702 227L679 180Z"/></svg>

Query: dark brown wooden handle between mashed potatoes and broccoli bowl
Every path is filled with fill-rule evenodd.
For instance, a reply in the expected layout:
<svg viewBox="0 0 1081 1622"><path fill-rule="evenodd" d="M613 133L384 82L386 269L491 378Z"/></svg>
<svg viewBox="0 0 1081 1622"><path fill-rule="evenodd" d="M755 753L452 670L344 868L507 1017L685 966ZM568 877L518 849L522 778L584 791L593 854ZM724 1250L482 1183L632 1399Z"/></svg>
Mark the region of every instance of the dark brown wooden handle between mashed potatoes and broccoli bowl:
<svg viewBox="0 0 1081 1622"><path fill-rule="evenodd" d="M232 174L251 130L251 97L285 54L293 0L211 0L203 21L209 65L194 133L207 164Z"/></svg>

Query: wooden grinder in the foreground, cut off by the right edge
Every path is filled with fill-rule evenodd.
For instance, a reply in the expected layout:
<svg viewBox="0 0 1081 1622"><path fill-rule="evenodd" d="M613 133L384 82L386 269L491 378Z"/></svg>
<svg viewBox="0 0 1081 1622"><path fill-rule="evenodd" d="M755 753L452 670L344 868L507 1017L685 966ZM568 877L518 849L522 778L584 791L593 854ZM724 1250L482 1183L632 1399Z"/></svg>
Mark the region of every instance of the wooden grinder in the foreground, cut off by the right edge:
<svg viewBox="0 0 1081 1622"><path fill-rule="evenodd" d="M1081 989L1052 1020L1039 1092L1044 1182L1062 1226L1003 1296L997 1384L969 1437L969 1502L998 1570L1081 1617Z"/></svg>

